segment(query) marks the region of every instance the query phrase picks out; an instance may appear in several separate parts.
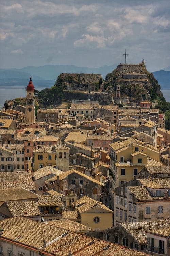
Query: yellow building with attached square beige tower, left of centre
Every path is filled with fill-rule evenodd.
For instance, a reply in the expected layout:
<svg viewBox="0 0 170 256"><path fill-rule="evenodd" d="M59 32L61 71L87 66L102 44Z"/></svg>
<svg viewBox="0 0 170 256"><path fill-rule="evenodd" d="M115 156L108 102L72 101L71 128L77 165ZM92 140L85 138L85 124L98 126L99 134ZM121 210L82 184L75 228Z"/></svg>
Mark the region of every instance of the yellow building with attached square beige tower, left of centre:
<svg viewBox="0 0 170 256"><path fill-rule="evenodd" d="M57 169L68 171L69 148L64 145L44 145L33 151L32 169L34 171L47 165L56 165Z"/></svg>

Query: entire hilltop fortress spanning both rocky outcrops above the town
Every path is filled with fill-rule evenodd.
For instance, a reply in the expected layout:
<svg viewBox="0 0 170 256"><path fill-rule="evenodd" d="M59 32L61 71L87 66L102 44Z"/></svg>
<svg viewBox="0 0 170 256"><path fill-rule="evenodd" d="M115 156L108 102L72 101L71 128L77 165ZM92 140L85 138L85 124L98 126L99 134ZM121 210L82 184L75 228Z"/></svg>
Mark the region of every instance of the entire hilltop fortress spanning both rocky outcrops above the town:
<svg viewBox="0 0 170 256"><path fill-rule="evenodd" d="M101 104L131 104L142 100L161 99L160 85L149 73L143 60L140 64L119 64L103 80L100 74L61 73L55 86L62 86L64 98L100 101ZM116 93L119 85L119 94ZM69 93L68 93L69 92Z"/></svg>

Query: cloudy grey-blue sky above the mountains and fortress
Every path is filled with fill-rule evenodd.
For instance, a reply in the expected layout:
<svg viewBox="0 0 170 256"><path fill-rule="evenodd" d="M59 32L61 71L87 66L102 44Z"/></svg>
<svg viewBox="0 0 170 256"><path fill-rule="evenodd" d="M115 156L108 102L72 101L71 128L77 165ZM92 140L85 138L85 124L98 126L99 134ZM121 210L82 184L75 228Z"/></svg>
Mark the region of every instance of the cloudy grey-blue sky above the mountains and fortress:
<svg viewBox="0 0 170 256"><path fill-rule="evenodd" d="M170 66L169 0L1 0L0 68Z"/></svg>

